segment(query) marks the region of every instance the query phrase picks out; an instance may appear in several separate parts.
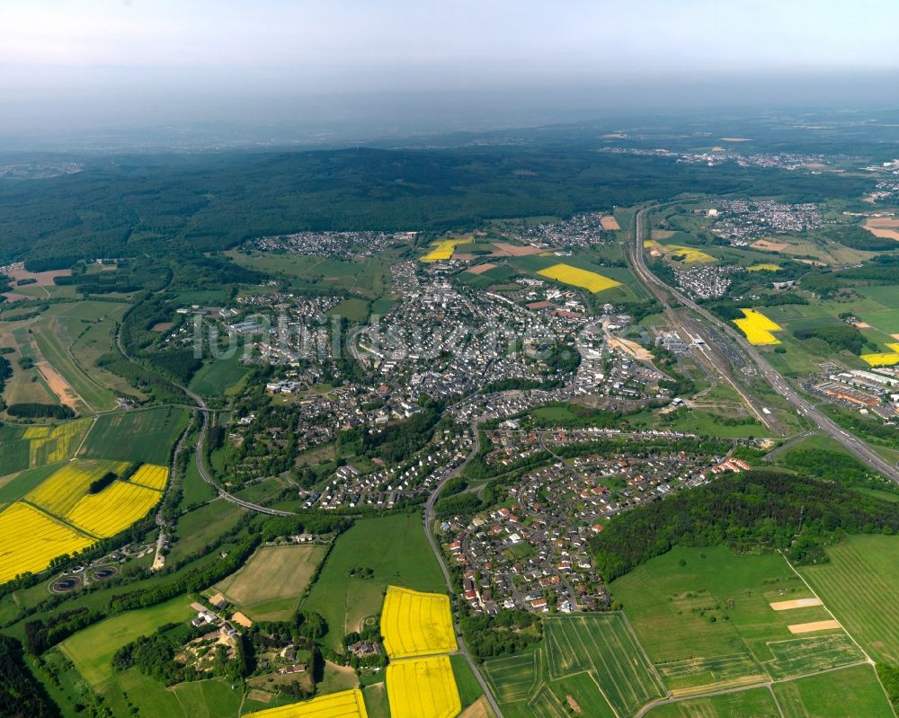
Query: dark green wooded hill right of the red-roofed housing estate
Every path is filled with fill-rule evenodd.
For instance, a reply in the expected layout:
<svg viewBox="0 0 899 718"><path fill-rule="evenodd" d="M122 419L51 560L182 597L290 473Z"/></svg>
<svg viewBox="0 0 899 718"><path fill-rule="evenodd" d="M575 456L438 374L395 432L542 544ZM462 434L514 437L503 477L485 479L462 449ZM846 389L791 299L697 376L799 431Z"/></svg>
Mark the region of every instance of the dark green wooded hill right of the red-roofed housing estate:
<svg viewBox="0 0 899 718"><path fill-rule="evenodd" d="M895 502L795 474L752 471L620 514L591 545L611 581L677 544L766 546L804 563L825 560L821 542L840 532L897 530Z"/></svg>

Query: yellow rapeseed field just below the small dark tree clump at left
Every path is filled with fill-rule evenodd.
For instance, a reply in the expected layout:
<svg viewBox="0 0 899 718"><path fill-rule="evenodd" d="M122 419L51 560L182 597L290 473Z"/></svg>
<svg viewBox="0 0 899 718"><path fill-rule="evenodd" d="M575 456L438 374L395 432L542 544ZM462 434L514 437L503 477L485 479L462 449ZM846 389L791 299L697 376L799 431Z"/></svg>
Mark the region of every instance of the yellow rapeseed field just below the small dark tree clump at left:
<svg viewBox="0 0 899 718"><path fill-rule="evenodd" d="M78 501L66 520L94 536L115 536L142 519L162 497L162 492L138 483L115 481Z"/></svg>

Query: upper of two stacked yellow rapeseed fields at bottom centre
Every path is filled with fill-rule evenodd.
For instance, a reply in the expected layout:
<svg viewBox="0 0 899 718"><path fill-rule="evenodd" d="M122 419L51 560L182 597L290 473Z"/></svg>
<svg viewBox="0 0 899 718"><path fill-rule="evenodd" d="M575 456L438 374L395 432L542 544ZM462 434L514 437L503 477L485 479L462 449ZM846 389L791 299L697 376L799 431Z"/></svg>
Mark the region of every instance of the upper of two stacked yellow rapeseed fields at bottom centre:
<svg viewBox="0 0 899 718"><path fill-rule="evenodd" d="M392 659L455 652L449 596L387 586L381 635Z"/></svg>

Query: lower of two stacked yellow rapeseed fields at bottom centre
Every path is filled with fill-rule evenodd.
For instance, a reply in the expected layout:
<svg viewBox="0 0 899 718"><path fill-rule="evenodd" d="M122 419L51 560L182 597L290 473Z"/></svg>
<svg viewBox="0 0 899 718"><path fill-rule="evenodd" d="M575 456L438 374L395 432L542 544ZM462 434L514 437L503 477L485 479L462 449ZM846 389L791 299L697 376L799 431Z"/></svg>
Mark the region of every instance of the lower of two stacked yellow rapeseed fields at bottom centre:
<svg viewBox="0 0 899 718"><path fill-rule="evenodd" d="M449 656L392 661L387 702L393 718L453 718L462 710Z"/></svg>

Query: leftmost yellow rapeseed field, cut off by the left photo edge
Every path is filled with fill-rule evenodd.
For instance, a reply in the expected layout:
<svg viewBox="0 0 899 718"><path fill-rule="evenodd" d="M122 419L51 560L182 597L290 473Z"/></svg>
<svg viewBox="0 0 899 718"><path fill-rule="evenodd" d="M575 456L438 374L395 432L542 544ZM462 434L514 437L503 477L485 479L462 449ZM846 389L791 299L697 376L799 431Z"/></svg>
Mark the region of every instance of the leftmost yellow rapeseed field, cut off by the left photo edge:
<svg viewBox="0 0 899 718"><path fill-rule="evenodd" d="M20 573L43 571L57 556L92 544L93 538L17 501L0 513L0 583Z"/></svg>

